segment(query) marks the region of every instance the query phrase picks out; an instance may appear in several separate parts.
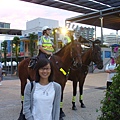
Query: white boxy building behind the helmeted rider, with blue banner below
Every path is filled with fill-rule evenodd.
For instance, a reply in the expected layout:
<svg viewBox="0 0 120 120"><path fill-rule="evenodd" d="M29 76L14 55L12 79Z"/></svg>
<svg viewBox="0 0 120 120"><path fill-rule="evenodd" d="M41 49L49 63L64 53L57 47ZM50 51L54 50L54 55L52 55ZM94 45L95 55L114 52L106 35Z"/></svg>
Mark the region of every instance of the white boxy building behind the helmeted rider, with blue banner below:
<svg viewBox="0 0 120 120"><path fill-rule="evenodd" d="M38 35L38 39L39 37L42 35L42 28L44 26L49 26L51 29L53 28L58 28L59 27L59 22L58 20L52 20L52 19L45 19L45 18L36 18L34 20L31 21L27 21L26 22L26 30L22 31L22 37L20 37L21 39L21 43L20 43L20 55L22 56L29 56L29 50L28 50L28 46L29 46L29 34L35 34ZM35 49L35 55L37 54L37 41L34 41L34 49Z"/></svg>

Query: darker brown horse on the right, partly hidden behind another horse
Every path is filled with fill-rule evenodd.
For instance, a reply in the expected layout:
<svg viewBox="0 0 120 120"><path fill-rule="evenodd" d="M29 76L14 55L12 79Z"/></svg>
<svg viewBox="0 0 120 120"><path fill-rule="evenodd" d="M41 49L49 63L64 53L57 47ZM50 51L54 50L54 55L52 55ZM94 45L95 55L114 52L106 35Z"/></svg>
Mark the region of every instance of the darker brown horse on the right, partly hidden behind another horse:
<svg viewBox="0 0 120 120"><path fill-rule="evenodd" d="M92 41L91 41L92 42ZM82 67L78 70L70 71L69 80L73 81L73 98L72 98L72 109L77 110L75 101L77 94L77 82L79 82L79 101L81 103L81 107L85 108L83 104L82 94L83 94L83 85L85 82L85 78L88 74L89 65L91 62L94 62L98 69L103 68L103 60L101 58L101 48L96 43L99 43L99 40L92 42L92 47L89 48L86 52L82 54Z"/></svg>

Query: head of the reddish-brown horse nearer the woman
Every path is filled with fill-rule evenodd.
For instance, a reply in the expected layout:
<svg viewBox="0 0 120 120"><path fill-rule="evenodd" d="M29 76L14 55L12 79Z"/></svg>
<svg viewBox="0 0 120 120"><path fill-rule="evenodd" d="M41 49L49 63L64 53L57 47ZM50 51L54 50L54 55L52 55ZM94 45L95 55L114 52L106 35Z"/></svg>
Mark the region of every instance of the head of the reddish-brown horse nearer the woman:
<svg viewBox="0 0 120 120"><path fill-rule="evenodd" d="M73 66L80 67L82 65L82 47L78 41L74 40L71 42L70 54L73 60Z"/></svg>

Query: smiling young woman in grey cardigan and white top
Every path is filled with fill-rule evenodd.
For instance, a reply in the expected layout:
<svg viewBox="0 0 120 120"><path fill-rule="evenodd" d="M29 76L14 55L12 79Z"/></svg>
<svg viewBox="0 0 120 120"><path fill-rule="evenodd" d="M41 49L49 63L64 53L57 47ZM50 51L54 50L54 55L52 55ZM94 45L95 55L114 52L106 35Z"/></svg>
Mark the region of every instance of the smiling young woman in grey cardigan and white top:
<svg viewBox="0 0 120 120"><path fill-rule="evenodd" d="M46 58L37 63L36 80L27 83L23 113L27 120L59 120L61 86L53 82L53 67Z"/></svg>

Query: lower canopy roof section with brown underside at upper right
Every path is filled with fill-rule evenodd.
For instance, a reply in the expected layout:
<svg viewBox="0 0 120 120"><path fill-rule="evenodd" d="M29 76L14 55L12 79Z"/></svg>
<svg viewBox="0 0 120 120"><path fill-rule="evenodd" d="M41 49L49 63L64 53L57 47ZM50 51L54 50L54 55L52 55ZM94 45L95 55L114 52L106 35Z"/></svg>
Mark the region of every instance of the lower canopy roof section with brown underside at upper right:
<svg viewBox="0 0 120 120"><path fill-rule="evenodd" d="M120 7L68 18L66 19L66 22L75 22L101 27L100 18L103 18L103 22L105 23L103 23L104 28L120 30Z"/></svg>

